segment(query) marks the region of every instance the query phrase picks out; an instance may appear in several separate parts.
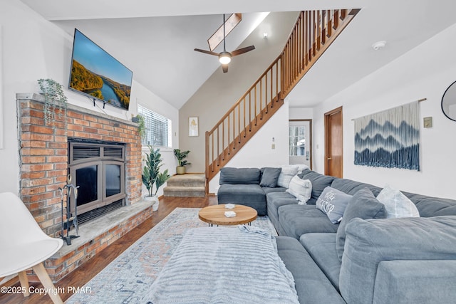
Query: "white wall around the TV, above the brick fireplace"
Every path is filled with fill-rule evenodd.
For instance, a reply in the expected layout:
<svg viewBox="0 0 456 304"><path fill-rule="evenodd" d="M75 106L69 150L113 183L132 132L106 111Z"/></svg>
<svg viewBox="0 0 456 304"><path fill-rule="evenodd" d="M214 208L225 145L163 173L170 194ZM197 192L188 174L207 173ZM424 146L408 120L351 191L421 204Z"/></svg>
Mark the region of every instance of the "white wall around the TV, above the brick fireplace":
<svg viewBox="0 0 456 304"><path fill-rule="evenodd" d="M53 78L64 87L68 84L73 37L46 21L19 0L0 2L0 27L2 33L2 58L0 68L3 73L1 101L3 103L4 148L0 150L2 167L0 174L0 192L19 193L19 142L17 138L16 93L38 93L39 78ZM109 50L107 50L109 51ZM133 71L134 77L135 71ZM93 107L93 101L65 90L68 102L105 112L108 115L129 120L136 112L136 100L149 103L157 112L172 119L176 136L179 130L178 110L165 100L160 100L153 93L133 82L130 112L106 105L102 110L99 103ZM174 140L173 140L174 142ZM178 144L175 140L176 145ZM170 171L175 170L175 163L167 154L165 163ZM165 168L165 167L163 167Z"/></svg>

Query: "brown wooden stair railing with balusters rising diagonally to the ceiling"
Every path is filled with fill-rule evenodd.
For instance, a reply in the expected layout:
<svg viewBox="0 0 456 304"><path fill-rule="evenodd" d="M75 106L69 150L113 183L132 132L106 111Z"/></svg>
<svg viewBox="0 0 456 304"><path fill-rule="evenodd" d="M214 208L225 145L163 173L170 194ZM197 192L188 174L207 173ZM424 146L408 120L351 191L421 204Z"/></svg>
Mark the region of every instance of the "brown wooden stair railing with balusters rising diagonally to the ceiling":
<svg viewBox="0 0 456 304"><path fill-rule="evenodd" d="M284 98L358 11L301 11L279 57L212 130L206 132L207 182L284 105Z"/></svg>

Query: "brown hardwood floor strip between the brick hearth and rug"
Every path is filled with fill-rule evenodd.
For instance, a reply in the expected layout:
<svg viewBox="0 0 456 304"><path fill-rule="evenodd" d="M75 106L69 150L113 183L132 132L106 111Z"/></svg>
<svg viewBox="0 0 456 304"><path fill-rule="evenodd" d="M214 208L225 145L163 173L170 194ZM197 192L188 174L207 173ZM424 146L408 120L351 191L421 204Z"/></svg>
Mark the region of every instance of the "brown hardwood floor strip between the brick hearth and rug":
<svg viewBox="0 0 456 304"><path fill-rule="evenodd" d="M138 227L125 234L122 238L115 241L112 245L105 248L98 255L91 258L89 261L84 263L81 267L77 268L72 273L68 274L61 281L58 281L54 285L59 290L64 290L64 293L60 293L63 301L71 297L72 293L68 293L68 287L70 288L82 288L84 284L90 281L97 273L103 270L108 264L113 261L120 253L123 253L130 245L135 243L142 235L152 229L153 226L158 224L162 219L170 214L175 208L202 208L204 206L217 204L217 196L207 197L164 197L160 199L160 208L155 211L152 218L147 219ZM33 288L42 288L40 283L31 283ZM19 278L14 286L19 287ZM0 293L0 303L7 304L19 304L19 303L52 303L51 298L48 295L31 294L25 298L22 294L4 294Z"/></svg>

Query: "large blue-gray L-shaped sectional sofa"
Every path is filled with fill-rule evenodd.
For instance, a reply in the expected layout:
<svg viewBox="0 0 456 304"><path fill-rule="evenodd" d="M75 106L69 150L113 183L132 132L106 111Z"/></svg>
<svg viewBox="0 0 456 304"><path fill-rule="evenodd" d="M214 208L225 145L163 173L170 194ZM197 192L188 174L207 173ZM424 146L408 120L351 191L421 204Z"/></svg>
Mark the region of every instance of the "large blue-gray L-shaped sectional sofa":
<svg viewBox="0 0 456 304"><path fill-rule="evenodd" d="M371 184L306 169L299 177L311 181L311 199L297 204L284 187L234 184L244 170L253 172L230 171L221 203L249 204L251 196L244 194L256 189L250 206L274 224L279 256L301 303L456 303L455 200L403 192L420 217L384 219L384 206L375 199L382 189ZM316 209L327 186L353 195L340 224Z"/></svg>

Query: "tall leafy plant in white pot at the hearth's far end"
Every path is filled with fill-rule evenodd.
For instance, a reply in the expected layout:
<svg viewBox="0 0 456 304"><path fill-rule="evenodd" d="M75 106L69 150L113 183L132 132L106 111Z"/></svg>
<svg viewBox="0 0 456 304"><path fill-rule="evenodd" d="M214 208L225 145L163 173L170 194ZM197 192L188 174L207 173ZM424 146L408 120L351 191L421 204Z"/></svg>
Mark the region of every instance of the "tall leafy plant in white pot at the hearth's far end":
<svg viewBox="0 0 456 304"><path fill-rule="evenodd" d="M147 196L144 197L146 201L153 201L152 211L157 211L158 209L158 196L157 192L160 187L162 187L165 182L170 179L170 174L166 169L164 172L160 172L160 167L162 167L162 154L160 154L160 149L154 149L149 146L150 153L145 155L145 166L142 169L142 184L145 185ZM155 184L155 193L153 193L153 186Z"/></svg>

